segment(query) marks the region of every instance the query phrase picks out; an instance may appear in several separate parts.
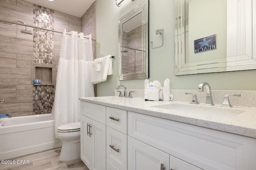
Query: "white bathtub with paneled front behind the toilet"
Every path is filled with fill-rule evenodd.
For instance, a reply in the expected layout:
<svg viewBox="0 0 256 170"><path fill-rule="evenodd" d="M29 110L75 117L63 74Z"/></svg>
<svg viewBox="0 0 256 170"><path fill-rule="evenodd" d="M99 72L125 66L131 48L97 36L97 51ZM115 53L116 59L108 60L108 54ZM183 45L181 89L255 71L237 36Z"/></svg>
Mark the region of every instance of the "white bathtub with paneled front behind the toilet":
<svg viewBox="0 0 256 170"><path fill-rule="evenodd" d="M61 146L51 114L0 118L0 160Z"/></svg>

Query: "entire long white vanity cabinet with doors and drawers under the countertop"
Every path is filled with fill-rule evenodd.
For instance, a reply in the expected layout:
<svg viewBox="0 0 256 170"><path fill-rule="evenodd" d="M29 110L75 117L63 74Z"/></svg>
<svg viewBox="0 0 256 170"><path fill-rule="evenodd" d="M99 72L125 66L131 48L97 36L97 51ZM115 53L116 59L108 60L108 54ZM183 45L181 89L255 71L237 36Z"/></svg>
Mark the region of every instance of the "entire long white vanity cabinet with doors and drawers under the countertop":
<svg viewBox="0 0 256 170"><path fill-rule="evenodd" d="M81 101L81 159L90 170L253 170L255 144L250 137Z"/></svg>

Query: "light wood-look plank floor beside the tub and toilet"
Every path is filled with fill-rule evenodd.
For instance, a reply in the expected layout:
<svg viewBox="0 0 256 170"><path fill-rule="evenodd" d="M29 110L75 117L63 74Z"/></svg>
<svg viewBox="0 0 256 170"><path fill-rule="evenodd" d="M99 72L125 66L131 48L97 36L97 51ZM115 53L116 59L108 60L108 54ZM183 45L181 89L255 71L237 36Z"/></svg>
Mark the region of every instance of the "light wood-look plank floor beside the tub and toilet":
<svg viewBox="0 0 256 170"><path fill-rule="evenodd" d="M89 170L82 160L59 161L60 148L28 154L9 160L29 160L29 164L0 164L0 170Z"/></svg>

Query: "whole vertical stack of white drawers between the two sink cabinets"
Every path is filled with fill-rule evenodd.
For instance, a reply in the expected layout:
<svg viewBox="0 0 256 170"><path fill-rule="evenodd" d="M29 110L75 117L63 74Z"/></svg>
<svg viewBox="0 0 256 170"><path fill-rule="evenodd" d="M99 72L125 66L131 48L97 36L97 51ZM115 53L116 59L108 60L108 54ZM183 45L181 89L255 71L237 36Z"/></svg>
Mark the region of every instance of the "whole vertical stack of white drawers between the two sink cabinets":
<svg viewBox="0 0 256 170"><path fill-rule="evenodd" d="M106 108L107 170L127 170L127 111Z"/></svg>

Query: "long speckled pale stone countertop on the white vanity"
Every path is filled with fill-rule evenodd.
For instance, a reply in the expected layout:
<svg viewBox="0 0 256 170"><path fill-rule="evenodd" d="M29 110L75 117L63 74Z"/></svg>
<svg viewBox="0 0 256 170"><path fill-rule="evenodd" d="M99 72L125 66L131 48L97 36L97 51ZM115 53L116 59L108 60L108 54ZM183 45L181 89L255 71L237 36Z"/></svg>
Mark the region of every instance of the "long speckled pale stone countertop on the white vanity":
<svg viewBox="0 0 256 170"><path fill-rule="evenodd" d="M193 105L189 102L178 101L144 101L143 98L119 98L117 96L88 97L79 98L79 100L256 138L255 107L226 108L220 105L204 106L204 104ZM182 109L176 109L179 106Z"/></svg>

